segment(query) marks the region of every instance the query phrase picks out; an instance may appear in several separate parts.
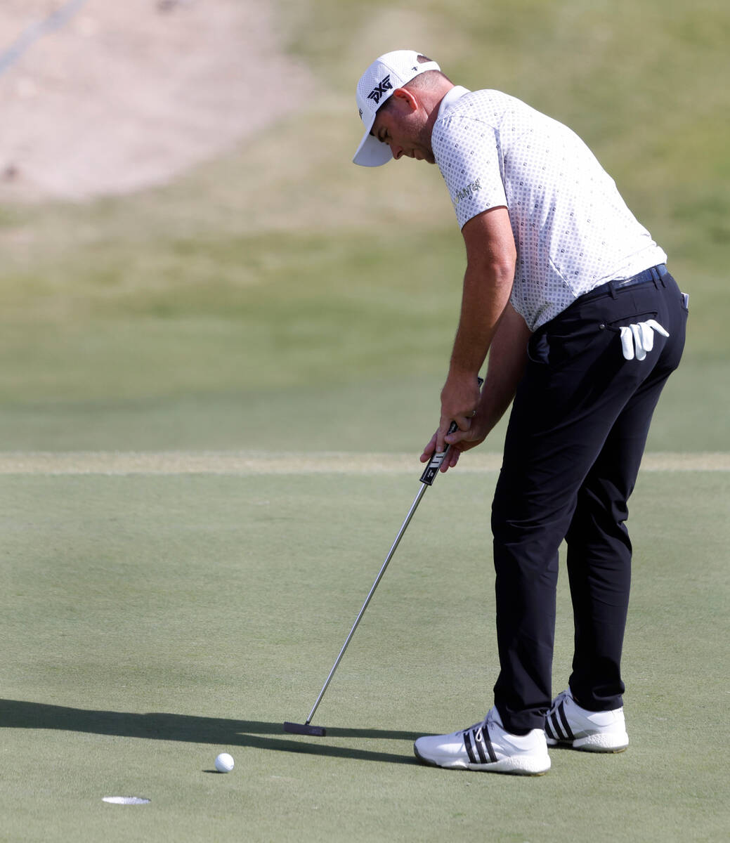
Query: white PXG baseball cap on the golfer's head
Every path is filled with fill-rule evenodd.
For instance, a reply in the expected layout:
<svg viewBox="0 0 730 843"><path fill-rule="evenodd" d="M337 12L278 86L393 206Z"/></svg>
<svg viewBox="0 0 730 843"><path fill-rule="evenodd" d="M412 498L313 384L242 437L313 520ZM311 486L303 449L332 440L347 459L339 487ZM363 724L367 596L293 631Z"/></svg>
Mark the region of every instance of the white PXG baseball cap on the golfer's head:
<svg viewBox="0 0 730 843"><path fill-rule="evenodd" d="M413 50L396 50L376 58L357 83L357 108L365 126L360 146L357 147L355 164L362 167L379 167L392 158L387 144L370 134L378 108L389 99L395 89L402 88L420 73L441 70L436 62Z"/></svg>

